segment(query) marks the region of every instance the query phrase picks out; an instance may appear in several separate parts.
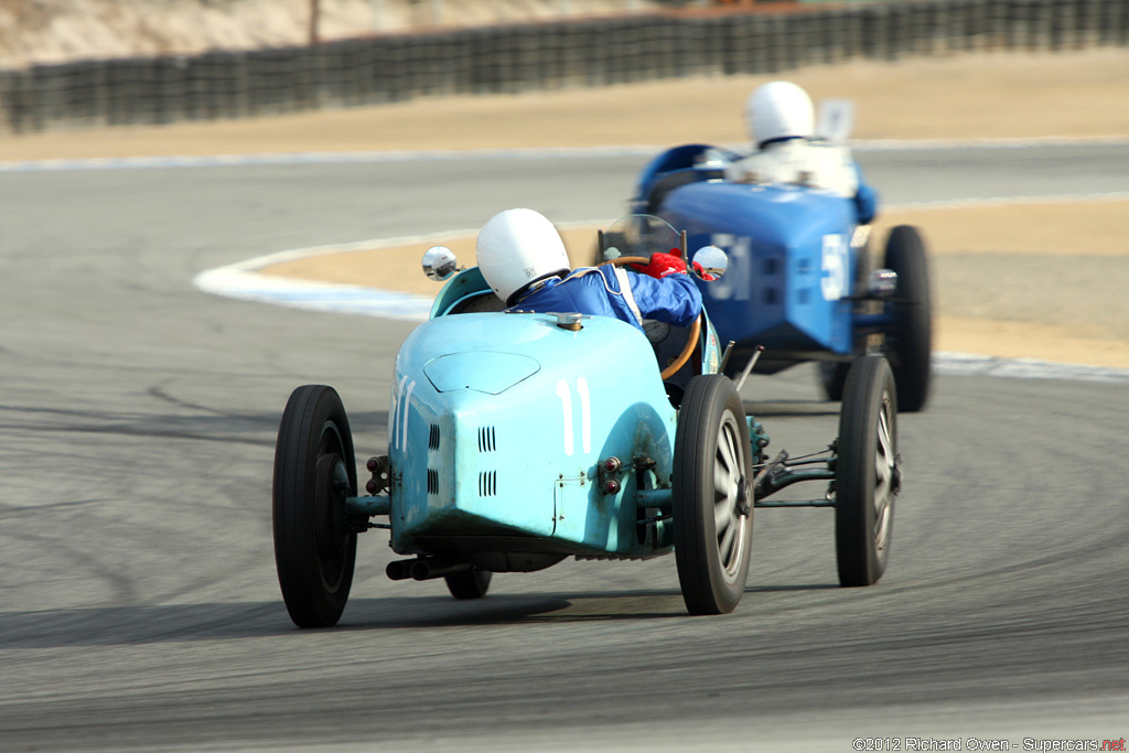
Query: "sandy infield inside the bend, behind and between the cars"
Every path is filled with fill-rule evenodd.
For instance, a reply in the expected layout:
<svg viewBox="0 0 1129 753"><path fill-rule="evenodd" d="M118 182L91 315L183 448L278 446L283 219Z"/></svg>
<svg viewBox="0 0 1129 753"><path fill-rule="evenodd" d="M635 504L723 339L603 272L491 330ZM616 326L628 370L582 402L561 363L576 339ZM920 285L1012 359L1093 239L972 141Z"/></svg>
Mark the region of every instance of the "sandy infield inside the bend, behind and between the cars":
<svg viewBox="0 0 1129 753"><path fill-rule="evenodd" d="M916 225L931 260L937 350L1129 368L1129 201L889 212L875 224L879 248L894 225ZM1082 231L1076 231L1076 230ZM596 228L566 229L576 264L590 263ZM473 263L474 237L444 238ZM300 259L272 274L387 287L432 296L420 271L428 242Z"/></svg>

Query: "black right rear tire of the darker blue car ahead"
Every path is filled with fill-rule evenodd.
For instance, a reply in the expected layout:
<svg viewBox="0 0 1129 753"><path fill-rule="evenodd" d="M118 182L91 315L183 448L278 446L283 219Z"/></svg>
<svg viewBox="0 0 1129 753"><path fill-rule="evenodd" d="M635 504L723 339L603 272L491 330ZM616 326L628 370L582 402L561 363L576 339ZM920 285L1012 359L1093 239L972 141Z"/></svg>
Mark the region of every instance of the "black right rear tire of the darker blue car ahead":
<svg viewBox="0 0 1129 753"><path fill-rule="evenodd" d="M899 225L890 231L884 266L898 272L898 290L890 304L894 324L886 336L886 353L898 380L900 410L916 413L929 399L933 376L929 260L917 228Z"/></svg>

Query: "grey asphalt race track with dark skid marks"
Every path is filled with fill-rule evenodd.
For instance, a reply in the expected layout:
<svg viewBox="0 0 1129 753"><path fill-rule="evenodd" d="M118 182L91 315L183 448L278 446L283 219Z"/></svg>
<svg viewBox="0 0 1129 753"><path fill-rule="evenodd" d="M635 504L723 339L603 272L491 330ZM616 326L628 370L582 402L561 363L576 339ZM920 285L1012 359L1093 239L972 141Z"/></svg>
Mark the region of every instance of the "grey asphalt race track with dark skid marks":
<svg viewBox="0 0 1129 753"><path fill-rule="evenodd" d="M861 159L892 203L1129 191L1126 146ZM900 422L907 479L870 588L837 586L828 510L758 511L747 592L721 618L684 614L673 558L566 561L457 603L387 580L371 532L341 625L291 625L271 543L282 408L332 384L358 455L383 452L413 325L207 296L193 277L511 205L611 217L641 161L0 174L0 750L1129 734L1126 382L940 376ZM808 369L744 396L774 449L835 434Z"/></svg>

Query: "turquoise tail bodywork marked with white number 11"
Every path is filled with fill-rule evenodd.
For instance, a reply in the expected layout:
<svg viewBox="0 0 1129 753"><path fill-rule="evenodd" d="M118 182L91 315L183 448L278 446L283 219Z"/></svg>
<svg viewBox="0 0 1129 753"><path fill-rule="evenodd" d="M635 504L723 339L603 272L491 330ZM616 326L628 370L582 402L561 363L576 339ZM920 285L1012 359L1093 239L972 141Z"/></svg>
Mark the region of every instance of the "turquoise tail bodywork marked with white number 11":
<svg viewBox="0 0 1129 753"><path fill-rule="evenodd" d="M659 553L657 531L637 534L637 474L605 493L597 467L648 457L647 483L669 485L677 413L658 370L646 336L610 317L578 331L551 314L422 324L395 364L393 549Z"/></svg>

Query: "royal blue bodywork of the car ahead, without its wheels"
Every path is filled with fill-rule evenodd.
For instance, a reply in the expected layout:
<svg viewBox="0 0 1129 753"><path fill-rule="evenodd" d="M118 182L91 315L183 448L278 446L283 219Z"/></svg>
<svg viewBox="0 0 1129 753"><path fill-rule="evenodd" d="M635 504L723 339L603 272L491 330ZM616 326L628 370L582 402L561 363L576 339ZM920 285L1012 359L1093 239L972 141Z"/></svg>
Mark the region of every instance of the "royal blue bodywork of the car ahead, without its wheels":
<svg viewBox="0 0 1129 753"><path fill-rule="evenodd" d="M675 147L642 170L636 195L674 227L688 245L716 245L729 270L700 289L723 342L736 343L734 364L756 345L771 373L811 359L850 358L859 332L855 305L861 261L851 244L857 222L849 199L799 185L723 180L704 145Z"/></svg>

